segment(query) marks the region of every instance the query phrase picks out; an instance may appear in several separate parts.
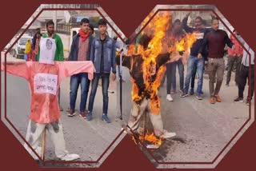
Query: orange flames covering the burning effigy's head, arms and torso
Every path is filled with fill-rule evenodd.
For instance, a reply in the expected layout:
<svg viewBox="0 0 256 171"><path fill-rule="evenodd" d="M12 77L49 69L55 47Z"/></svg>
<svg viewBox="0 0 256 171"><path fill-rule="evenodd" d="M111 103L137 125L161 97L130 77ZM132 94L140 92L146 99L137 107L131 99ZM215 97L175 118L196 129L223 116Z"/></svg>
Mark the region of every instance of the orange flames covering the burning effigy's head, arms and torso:
<svg viewBox="0 0 256 171"><path fill-rule="evenodd" d="M161 66L156 72L158 54L172 51L190 51L190 47L196 41L194 34L186 34L182 40L175 42L174 46L168 47L168 42L171 38L166 38L167 30L171 23L170 12L158 12L149 24L142 30L142 35L146 34L151 38L148 46L145 48L142 45L130 45L127 50L127 55L141 54L143 80L145 84L145 92L150 94L150 110L154 114L160 113L160 99L158 97L158 87L161 85L162 77L165 74L166 67ZM156 74L154 81L152 76ZM140 101L142 97L138 95L138 87L133 82L131 92L133 101Z"/></svg>

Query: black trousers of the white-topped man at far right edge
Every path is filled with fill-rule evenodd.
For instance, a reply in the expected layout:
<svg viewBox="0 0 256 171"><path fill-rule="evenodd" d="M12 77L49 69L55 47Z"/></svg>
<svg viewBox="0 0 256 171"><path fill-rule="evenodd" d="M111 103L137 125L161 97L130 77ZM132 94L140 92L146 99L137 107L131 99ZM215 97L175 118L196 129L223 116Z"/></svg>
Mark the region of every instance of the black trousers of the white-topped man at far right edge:
<svg viewBox="0 0 256 171"><path fill-rule="evenodd" d="M240 67L241 68L239 70L238 96L243 98L243 92L246 87L246 82L248 80L249 85L250 78L250 89L248 89L247 98L251 100L251 98L254 96L254 65L251 65L251 68L249 68L249 66L244 66L241 64ZM251 73L250 75L249 72Z"/></svg>

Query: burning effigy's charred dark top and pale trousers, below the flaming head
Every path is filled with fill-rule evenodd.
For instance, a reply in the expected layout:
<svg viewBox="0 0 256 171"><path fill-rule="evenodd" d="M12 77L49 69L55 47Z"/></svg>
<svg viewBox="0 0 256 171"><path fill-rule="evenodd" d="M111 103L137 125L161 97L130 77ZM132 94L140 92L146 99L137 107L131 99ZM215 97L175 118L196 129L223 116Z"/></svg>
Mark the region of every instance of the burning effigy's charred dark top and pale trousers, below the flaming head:
<svg viewBox="0 0 256 171"><path fill-rule="evenodd" d="M119 58L119 56L117 57ZM117 62L119 61L118 58ZM128 126L133 131L138 129L142 115L148 113L154 127L155 135L161 137L168 134L168 132L163 129L160 113L160 99L158 97L158 87L165 71L165 67L162 66L168 61L170 61L170 53L159 54L156 63L148 67L150 74L145 76L142 70L144 60L140 54L122 56L122 66L126 66L130 70L133 82L133 102L130 111L130 119L128 121ZM171 133L171 135L170 137L173 137L175 133Z"/></svg>

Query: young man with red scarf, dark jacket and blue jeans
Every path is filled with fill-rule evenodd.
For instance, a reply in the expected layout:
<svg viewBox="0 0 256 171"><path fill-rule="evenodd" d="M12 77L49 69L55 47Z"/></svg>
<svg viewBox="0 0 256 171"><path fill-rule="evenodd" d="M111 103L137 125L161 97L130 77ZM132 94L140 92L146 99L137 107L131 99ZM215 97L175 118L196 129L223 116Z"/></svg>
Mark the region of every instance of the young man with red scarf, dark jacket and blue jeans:
<svg viewBox="0 0 256 171"><path fill-rule="evenodd" d="M80 30L74 36L70 49L69 61L89 61L90 46L94 38L89 33L90 22L87 18L82 18ZM86 101L88 96L89 80L87 73L74 74L70 78L70 111L69 117L75 115L75 102L77 99L78 87L81 86L80 116L86 119Z"/></svg>

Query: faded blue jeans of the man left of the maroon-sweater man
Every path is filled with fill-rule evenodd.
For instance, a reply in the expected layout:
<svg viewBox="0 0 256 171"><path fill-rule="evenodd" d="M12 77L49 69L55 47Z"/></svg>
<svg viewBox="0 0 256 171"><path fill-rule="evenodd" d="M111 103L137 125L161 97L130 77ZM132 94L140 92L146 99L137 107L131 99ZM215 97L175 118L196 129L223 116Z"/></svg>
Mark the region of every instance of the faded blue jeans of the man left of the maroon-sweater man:
<svg viewBox="0 0 256 171"><path fill-rule="evenodd" d="M188 93L188 90L190 88L190 79L194 76L193 74L195 72L198 72L198 89L197 93L202 92L202 74L203 74L203 68L205 65L204 58L198 58L194 56L190 56L189 62L187 65L187 73L186 73L186 80L185 80L185 93Z"/></svg>

